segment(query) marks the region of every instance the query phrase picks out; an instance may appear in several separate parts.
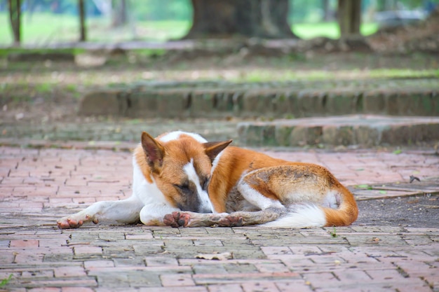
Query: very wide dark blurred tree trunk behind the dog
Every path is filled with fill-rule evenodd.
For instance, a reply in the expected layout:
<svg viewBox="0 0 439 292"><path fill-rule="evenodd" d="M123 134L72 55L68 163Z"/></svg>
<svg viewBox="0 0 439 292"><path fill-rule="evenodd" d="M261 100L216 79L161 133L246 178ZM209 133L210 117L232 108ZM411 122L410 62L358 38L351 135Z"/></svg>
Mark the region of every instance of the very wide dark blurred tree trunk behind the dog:
<svg viewBox="0 0 439 292"><path fill-rule="evenodd" d="M184 39L297 38L288 24L288 0L191 0L192 27Z"/></svg>

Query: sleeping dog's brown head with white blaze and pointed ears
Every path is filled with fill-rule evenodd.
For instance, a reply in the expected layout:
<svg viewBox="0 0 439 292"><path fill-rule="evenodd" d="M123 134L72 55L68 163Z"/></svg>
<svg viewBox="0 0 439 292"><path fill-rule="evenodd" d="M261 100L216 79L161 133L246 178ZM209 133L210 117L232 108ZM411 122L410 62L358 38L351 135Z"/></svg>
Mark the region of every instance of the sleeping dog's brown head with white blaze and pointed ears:
<svg viewBox="0 0 439 292"><path fill-rule="evenodd" d="M166 200L182 211L212 213L208 185L212 162L229 141L201 142L181 132L173 139L154 139L142 133L149 172Z"/></svg>

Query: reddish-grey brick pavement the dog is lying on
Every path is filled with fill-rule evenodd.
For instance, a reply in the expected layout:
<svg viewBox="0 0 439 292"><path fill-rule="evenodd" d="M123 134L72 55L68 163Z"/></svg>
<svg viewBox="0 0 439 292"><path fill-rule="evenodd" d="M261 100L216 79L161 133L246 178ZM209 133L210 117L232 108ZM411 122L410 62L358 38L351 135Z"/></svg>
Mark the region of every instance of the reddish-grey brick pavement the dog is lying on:
<svg viewBox="0 0 439 292"><path fill-rule="evenodd" d="M0 279L13 275L6 291L439 291L439 228L59 230L60 216L130 196L128 151L73 146L0 147ZM325 165L348 186L439 177L438 156L422 151L266 152ZM196 257L223 252L232 258Z"/></svg>

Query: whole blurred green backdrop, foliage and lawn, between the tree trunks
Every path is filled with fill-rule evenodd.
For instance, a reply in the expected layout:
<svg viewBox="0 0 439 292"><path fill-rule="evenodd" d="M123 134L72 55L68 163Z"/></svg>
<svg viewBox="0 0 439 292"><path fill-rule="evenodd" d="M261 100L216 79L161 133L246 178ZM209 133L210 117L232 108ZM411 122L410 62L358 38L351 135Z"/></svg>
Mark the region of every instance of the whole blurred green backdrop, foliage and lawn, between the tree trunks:
<svg viewBox="0 0 439 292"><path fill-rule="evenodd" d="M289 0L288 20L302 39L339 37L337 0ZM118 21L121 4L126 19ZM439 0L363 0L361 33L377 32L377 13L412 11L420 18ZM189 31L193 8L190 0L86 0L88 41L167 41ZM44 46L78 40L77 0L22 0L22 44ZM13 41L8 16L8 0L0 0L0 46Z"/></svg>

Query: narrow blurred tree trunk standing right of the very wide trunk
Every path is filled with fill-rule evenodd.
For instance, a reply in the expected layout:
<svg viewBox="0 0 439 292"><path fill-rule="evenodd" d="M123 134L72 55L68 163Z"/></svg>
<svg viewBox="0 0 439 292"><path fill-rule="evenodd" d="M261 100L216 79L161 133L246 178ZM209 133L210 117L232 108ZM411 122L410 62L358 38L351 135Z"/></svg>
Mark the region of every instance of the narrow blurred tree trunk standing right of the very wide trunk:
<svg viewBox="0 0 439 292"><path fill-rule="evenodd" d="M337 16L342 38L360 35L361 0L338 0Z"/></svg>

